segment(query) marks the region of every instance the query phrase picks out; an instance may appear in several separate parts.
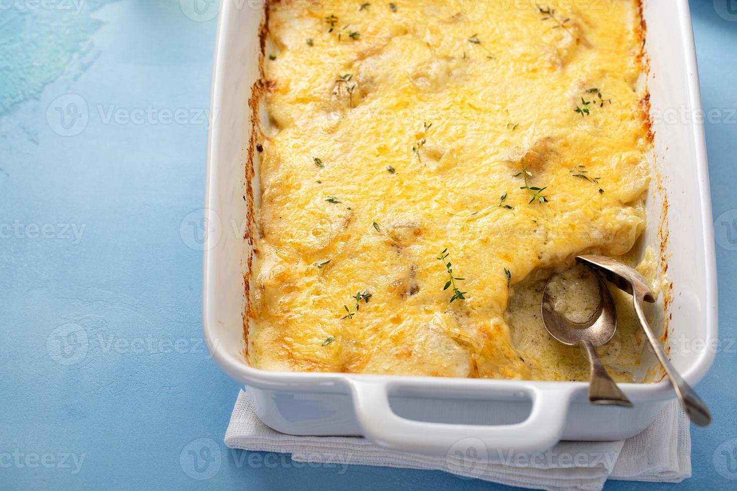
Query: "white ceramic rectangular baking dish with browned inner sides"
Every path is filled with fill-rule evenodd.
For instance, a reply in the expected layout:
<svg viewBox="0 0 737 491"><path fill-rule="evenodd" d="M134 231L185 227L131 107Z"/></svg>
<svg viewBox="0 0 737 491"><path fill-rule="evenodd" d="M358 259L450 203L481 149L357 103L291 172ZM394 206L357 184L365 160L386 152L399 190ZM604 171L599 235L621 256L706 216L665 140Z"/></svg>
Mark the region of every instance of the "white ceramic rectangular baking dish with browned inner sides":
<svg viewBox="0 0 737 491"><path fill-rule="evenodd" d="M256 2L258 4L259 2ZM604 2L605 3L605 2ZM635 407L590 406L581 382L444 379L342 373L265 372L245 363L244 276L250 249L245 166L251 133L251 87L259 77L264 13L250 2L223 1L217 30L206 178L203 329L212 355L244 384L259 417L298 435L360 435L402 451L446 454L461 443L487 450L541 451L559 439L622 439L652 423L674 398L667 381L622 384ZM674 289L667 314L674 366L696 384L713 360L716 272L705 141L693 117L701 110L687 0L649 0L646 49L651 60L654 170L646 243L659 250L658 217L670 197L664 245ZM686 116L683 116L686 115ZM662 117L661 117L662 116ZM252 151L252 150L251 150ZM254 197L258 202L259 197ZM662 316L662 303L660 304ZM656 316L658 317L658 316ZM674 344L674 341L677 344ZM698 343L697 343L698 342ZM391 398L390 398L391 396ZM390 403L391 401L391 403ZM458 445L455 446L455 450Z"/></svg>

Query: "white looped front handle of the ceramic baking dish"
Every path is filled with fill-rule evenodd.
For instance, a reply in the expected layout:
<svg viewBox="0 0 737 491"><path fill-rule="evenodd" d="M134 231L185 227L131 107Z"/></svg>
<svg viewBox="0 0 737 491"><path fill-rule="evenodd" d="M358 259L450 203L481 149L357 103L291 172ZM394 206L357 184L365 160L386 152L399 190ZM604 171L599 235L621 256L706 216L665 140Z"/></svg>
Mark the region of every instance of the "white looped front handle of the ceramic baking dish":
<svg viewBox="0 0 737 491"><path fill-rule="evenodd" d="M555 445L565 427L571 389L539 389L519 386L504 392L523 392L532 399L532 411L522 423L464 425L408 420L392 411L388 385L351 381L356 417L363 434L377 445L392 450L451 456L489 451L532 453ZM495 389L497 390L497 389Z"/></svg>

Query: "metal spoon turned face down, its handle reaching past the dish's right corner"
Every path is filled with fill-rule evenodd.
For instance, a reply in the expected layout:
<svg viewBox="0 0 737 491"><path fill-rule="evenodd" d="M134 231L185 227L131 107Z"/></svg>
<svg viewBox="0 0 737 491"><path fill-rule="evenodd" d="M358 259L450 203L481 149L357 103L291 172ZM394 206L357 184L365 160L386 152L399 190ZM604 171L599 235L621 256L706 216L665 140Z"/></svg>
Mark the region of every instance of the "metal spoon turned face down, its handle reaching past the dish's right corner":
<svg viewBox="0 0 737 491"><path fill-rule="evenodd" d="M628 266L621 261L608 258L604 255L579 255L576 257L576 261L601 271L607 277L607 280L614 283L618 289L624 290L624 292L632 295L632 301L635 303L635 312L638 314L640 325L642 325L643 331L645 331L647 339L650 345L652 345L655 356L657 356L660 364L663 365L663 369L666 370L666 374L671 380L673 388L676 390L676 395L678 395L681 406L683 406L688 417L696 425L706 426L711 423L711 413L708 407L696 395L694 389L691 389L691 386L683 380L673 365L671 365L666 352L663 351L663 347L660 346L660 342L658 342L657 337L645 319L643 301L655 301L652 290L645 281L645 278L632 266Z"/></svg>

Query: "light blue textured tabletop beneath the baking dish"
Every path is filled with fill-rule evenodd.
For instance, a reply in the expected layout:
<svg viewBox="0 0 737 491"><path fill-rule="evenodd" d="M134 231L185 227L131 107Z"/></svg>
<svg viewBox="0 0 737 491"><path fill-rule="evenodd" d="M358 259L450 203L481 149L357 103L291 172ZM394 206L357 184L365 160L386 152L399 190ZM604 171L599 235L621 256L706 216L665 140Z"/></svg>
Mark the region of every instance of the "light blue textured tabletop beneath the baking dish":
<svg viewBox="0 0 737 491"><path fill-rule="evenodd" d="M201 255L180 228L203 203L216 24L191 3L2 2L0 488L503 489L222 444L238 386L203 345ZM726 341L699 385L714 423L692 431L693 490L737 486L736 7L691 1L721 115L705 127ZM188 464L202 438L222 451L208 481ZM607 489L635 486L666 485Z"/></svg>

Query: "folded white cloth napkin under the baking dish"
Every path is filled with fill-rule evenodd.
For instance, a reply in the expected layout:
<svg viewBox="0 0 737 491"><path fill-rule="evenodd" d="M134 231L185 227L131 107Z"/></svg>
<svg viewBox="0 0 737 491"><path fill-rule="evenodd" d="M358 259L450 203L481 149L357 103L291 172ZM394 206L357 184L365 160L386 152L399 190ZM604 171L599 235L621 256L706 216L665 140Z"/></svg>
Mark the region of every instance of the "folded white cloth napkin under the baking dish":
<svg viewBox="0 0 737 491"><path fill-rule="evenodd" d="M540 490L601 490L608 478L680 482L691 476L691 434L683 410L673 400L654 423L619 442L559 442L551 451L489 455L484 461L453 456L403 453L361 437L294 437L269 428L241 391L231 414L225 443L230 448L291 453L294 462L360 464L444 470L510 486Z"/></svg>

